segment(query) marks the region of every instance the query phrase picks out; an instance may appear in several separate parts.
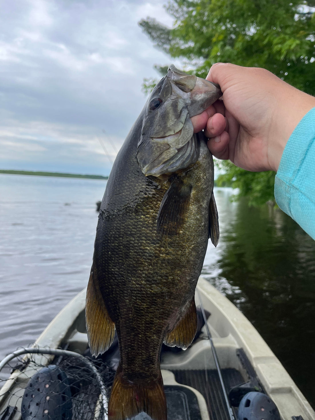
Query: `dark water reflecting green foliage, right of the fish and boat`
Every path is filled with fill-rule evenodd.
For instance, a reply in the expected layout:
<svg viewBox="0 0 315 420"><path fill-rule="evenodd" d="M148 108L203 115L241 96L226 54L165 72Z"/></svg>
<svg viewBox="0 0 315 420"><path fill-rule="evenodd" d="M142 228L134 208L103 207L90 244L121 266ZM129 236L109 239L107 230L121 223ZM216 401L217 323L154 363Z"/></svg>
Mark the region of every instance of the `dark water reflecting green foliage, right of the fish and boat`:
<svg viewBox="0 0 315 420"><path fill-rule="evenodd" d="M204 275L255 325L315 406L315 241L281 210L230 203L230 194L216 193L220 249Z"/></svg>

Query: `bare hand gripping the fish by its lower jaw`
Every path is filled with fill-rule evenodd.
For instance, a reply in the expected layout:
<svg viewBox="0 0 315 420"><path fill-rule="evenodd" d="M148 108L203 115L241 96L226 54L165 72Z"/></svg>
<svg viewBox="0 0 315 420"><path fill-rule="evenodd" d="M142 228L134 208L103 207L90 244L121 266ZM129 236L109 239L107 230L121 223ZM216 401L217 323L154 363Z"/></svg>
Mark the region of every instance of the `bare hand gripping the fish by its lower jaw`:
<svg viewBox="0 0 315 420"><path fill-rule="evenodd" d="M223 101L192 117L194 132L205 129L219 159L248 171L277 171L290 135L315 98L263 68L216 63L206 79L220 85Z"/></svg>

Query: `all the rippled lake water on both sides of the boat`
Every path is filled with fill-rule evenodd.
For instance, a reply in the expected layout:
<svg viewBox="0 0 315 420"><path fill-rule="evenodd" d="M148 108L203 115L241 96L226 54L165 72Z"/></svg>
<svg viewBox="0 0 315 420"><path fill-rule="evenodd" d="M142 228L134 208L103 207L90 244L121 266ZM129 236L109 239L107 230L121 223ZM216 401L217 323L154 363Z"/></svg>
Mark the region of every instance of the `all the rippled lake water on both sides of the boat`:
<svg viewBox="0 0 315 420"><path fill-rule="evenodd" d="M87 285L106 181L0 175L0 358L28 346ZM315 406L315 241L281 210L215 189L220 242L202 270Z"/></svg>

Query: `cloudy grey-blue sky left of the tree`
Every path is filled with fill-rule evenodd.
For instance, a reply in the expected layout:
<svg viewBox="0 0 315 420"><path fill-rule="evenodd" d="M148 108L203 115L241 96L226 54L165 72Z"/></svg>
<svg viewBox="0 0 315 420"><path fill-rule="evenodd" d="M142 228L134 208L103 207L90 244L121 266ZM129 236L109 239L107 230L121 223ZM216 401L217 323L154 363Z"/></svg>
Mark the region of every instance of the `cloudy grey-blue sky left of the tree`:
<svg viewBox="0 0 315 420"><path fill-rule="evenodd" d="M0 2L0 169L109 174L144 105L143 78L171 62L138 26L147 16L171 26L165 3Z"/></svg>

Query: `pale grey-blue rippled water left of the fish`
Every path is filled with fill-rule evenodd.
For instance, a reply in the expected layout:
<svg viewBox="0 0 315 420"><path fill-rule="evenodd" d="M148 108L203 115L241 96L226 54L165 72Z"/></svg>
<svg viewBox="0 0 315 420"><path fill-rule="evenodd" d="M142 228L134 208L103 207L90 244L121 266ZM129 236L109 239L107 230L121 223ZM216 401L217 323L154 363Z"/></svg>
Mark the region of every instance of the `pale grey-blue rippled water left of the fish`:
<svg viewBox="0 0 315 420"><path fill-rule="evenodd" d="M0 359L32 344L87 285L105 185L0 175Z"/></svg>

